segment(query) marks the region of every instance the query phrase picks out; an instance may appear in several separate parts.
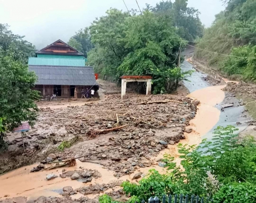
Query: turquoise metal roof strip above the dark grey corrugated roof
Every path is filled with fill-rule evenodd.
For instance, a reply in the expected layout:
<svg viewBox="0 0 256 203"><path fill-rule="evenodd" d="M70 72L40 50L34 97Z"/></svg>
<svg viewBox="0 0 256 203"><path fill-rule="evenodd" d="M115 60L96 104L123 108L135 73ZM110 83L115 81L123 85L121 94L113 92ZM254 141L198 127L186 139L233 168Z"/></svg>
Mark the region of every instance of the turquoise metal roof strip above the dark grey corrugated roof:
<svg viewBox="0 0 256 203"><path fill-rule="evenodd" d="M28 65L85 66L85 60L84 59L29 57L28 58Z"/></svg>

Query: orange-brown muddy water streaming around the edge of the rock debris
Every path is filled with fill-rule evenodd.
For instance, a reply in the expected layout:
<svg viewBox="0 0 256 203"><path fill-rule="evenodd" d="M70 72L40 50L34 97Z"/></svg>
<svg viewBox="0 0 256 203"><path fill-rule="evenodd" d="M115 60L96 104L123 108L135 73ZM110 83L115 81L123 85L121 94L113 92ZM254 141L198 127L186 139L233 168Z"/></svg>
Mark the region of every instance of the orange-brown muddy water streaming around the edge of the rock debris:
<svg viewBox="0 0 256 203"><path fill-rule="evenodd" d="M194 91L188 95L188 97L200 100L200 105L198 106L198 111L195 118L190 121L190 126L192 127L193 131L190 134L185 133L186 139L181 140L180 143L189 145L199 144L201 142L201 137L206 134L210 129L212 129L214 125L218 122L220 111L215 107L215 105L223 101L223 99L225 98L225 93L222 91L222 88L224 87L225 85L206 87ZM164 153L169 153L174 156L175 162L179 164L179 154L175 145L169 145L168 149L161 151L161 153L153 159L157 160L163 157ZM60 197L58 191L62 190L62 188L65 186L71 186L73 187L73 189L75 189L95 183L107 184L108 182L115 180L131 180L134 175L131 174L123 176L121 178L115 178L113 176L113 171L108 171L101 165L95 163L80 162L79 160L77 160L77 165L73 167L67 167L65 169L67 169L68 171L79 170L80 166L86 169L96 169L101 173L102 177L98 179L93 178L92 182L86 184L78 182L76 180L71 180L70 178L55 178L47 181L47 174L53 173L55 175L59 175L62 173L62 169L64 168L51 171L30 173L30 169L37 165L38 163L30 166L25 166L0 176L0 199L20 196L28 197L28 199L36 199L39 196ZM164 172L164 169L160 168L159 166L141 168L138 171L146 174L149 169L152 168L158 170L161 173ZM78 198L80 196L81 195L78 193L77 195L73 196L73 198ZM92 198L93 196L88 197Z"/></svg>

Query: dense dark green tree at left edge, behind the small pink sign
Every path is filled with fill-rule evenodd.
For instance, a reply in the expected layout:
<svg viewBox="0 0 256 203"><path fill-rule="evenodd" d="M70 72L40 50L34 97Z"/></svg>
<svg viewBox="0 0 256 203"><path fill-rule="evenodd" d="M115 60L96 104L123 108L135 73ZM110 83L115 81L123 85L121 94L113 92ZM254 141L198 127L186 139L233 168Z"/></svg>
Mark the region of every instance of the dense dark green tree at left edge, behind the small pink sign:
<svg viewBox="0 0 256 203"><path fill-rule="evenodd" d="M15 60L15 53L7 50L6 56L0 49L0 118L5 131L10 132L22 121L34 125L37 118L38 91L31 90L37 80L34 72L28 71L28 66Z"/></svg>

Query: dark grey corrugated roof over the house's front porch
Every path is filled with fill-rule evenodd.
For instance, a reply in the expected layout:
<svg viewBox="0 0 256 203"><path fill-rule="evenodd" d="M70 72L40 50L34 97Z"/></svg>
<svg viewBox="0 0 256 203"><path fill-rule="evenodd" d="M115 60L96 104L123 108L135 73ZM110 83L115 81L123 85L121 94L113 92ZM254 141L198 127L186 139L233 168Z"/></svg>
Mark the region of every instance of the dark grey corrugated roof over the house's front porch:
<svg viewBox="0 0 256 203"><path fill-rule="evenodd" d="M29 65L38 76L37 85L97 85L91 66Z"/></svg>

